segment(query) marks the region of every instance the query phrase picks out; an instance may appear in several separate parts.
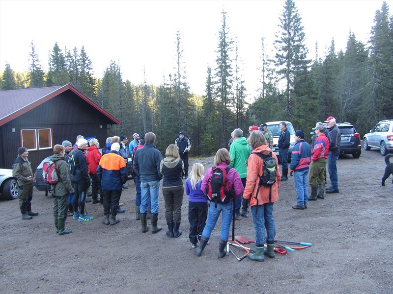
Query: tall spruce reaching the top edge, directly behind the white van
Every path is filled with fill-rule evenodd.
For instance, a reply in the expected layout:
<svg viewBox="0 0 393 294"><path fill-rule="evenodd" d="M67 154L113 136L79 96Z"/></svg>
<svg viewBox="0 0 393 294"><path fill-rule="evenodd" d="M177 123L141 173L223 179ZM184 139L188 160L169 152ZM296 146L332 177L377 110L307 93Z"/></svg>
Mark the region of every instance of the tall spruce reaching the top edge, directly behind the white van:
<svg viewBox="0 0 393 294"><path fill-rule="evenodd" d="M296 94L304 95L302 87L308 83L307 49L305 47L305 33L293 0L285 0L284 9L280 17L281 31L276 35L275 65L277 74L285 81L283 105L285 117L291 120L292 107L296 104ZM295 89L297 87L297 89ZM296 94L294 92L297 92Z"/></svg>

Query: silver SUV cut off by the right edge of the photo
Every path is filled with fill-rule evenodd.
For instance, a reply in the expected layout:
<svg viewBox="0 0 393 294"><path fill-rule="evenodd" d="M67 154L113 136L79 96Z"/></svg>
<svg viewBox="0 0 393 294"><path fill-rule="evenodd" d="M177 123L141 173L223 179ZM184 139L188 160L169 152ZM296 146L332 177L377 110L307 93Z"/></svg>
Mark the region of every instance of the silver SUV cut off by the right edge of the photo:
<svg viewBox="0 0 393 294"><path fill-rule="evenodd" d="M379 149L385 156L393 151L393 120L383 120L377 123L369 133L363 137L365 150L371 147Z"/></svg>

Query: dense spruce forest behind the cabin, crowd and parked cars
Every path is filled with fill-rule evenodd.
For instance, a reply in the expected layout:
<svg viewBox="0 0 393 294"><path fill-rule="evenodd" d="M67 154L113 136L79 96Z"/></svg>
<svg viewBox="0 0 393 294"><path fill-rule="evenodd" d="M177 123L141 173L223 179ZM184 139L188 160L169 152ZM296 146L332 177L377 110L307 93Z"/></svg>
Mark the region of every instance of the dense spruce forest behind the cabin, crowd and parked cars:
<svg viewBox="0 0 393 294"><path fill-rule="evenodd" d="M242 68L225 11L221 18L216 63L206 68L203 96L189 89L180 31L174 36L176 67L161 85L124 81L121 65L115 61L97 78L84 47L62 50L57 42L46 73L32 41L28 71L15 73L6 64L0 89L70 83L120 120L120 125L109 129L109 136L130 138L135 132L152 131L157 135L157 148L163 151L183 130L194 156L210 156L226 147L237 127L246 135L250 125L269 121L290 121L309 134L316 122L334 116L337 122L354 124L363 137L378 121L393 119L393 16L386 2L375 12L367 44L348 32L345 50L337 52L333 39L324 56L316 54L315 60L309 60L301 14L295 1L285 0L274 56L267 56L265 38L258 37L262 58L255 65L261 81L257 97L246 96L241 73L247 69Z"/></svg>

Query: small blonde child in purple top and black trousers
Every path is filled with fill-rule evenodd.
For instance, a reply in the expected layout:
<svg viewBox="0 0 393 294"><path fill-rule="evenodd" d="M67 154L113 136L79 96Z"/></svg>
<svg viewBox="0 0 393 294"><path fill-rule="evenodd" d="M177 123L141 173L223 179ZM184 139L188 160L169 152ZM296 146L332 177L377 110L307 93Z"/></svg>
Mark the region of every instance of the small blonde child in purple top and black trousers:
<svg viewBox="0 0 393 294"><path fill-rule="evenodd" d="M190 177L186 180L186 194L188 201L188 221L190 222L190 242L191 247L196 248L198 240L202 236L207 219L207 199L200 190L203 180L203 165L196 163L193 165Z"/></svg>

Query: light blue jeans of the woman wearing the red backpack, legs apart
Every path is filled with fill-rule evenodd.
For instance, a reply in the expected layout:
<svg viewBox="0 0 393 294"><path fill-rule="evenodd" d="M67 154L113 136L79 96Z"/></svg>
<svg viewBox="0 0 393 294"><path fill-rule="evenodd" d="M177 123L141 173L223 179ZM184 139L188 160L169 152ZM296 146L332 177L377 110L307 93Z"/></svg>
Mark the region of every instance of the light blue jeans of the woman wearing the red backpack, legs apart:
<svg viewBox="0 0 393 294"><path fill-rule="evenodd" d="M221 234L220 239L223 241L228 241L229 238L229 228L230 223L232 221L232 208L233 201L230 201L227 204L217 203L217 207L215 207L215 203L210 203L209 212L207 217L207 223L205 228L203 229L202 236L205 238L210 238L214 227L216 226L218 217L221 212L223 212L221 216Z"/></svg>

